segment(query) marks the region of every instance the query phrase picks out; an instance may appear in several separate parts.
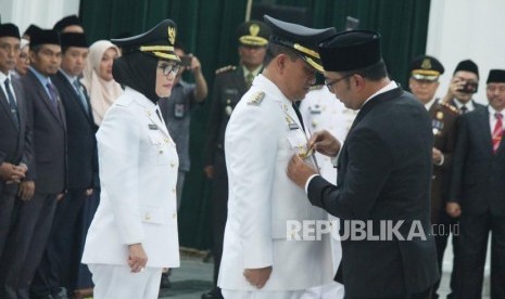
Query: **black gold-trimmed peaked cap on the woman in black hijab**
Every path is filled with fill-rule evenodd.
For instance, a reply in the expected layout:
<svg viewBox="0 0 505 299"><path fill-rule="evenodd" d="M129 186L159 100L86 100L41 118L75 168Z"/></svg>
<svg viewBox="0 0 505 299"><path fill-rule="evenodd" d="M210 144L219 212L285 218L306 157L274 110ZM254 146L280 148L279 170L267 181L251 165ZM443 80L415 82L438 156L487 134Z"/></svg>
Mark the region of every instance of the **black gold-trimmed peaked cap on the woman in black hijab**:
<svg viewBox="0 0 505 299"><path fill-rule="evenodd" d="M149 31L123 39L111 39L111 42L123 49L123 54L140 51L148 55L180 62L174 51L177 26L174 21L166 18Z"/></svg>

